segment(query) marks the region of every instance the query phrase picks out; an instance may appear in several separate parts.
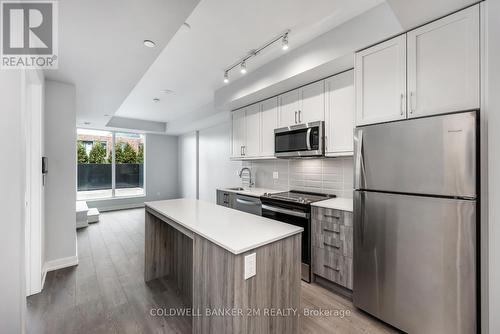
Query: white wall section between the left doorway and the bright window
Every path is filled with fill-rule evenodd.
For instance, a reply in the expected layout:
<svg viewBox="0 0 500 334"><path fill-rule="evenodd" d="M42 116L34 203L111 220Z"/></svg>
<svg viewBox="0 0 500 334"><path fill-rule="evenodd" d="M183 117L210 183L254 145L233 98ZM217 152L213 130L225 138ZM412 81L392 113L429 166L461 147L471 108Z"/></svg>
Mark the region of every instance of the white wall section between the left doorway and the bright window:
<svg viewBox="0 0 500 334"><path fill-rule="evenodd" d="M45 82L46 260L76 257L75 86Z"/></svg>

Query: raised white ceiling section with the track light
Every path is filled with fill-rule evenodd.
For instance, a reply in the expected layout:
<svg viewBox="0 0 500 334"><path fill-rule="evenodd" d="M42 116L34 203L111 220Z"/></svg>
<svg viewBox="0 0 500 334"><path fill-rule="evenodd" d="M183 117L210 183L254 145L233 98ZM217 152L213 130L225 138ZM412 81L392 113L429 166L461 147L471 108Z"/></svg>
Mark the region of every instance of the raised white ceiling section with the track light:
<svg viewBox="0 0 500 334"><path fill-rule="evenodd" d="M381 3L382 0L202 0L116 112L169 122L213 103L224 69L291 29L290 49ZM280 44L247 63L252 69L281 56ZM239 69L231 73L237 80ZM164 94L160 90L173 93ZM153 98L160 102L153 102ZM215 111L214 111L215 113ZM168 129L168 126L167 126ZM168 130L167 130L168 132Z"/></svg>

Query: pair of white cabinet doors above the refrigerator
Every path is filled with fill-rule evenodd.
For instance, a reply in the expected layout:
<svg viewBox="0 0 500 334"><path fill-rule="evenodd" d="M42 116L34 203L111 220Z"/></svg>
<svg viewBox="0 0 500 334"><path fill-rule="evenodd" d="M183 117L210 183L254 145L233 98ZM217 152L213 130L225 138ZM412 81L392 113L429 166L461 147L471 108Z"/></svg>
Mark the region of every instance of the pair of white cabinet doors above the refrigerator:
<svg viewBox="0 0 500 334"><path fill-rule="evenodd" d="M479 39L475 5L356 53L356 125L479 108Z"/></svg>

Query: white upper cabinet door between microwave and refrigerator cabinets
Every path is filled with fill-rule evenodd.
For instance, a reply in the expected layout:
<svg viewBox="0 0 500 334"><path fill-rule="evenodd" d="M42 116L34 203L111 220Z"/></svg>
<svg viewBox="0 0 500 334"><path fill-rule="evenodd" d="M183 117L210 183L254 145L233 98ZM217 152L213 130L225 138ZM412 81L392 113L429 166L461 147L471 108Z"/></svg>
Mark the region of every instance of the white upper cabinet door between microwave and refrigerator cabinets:
<svg viewBox="0 0 500 334"><path fill-rule="evenodd" d="M325 80L325 155L352 155L354 150L354 72Z"/></svg>

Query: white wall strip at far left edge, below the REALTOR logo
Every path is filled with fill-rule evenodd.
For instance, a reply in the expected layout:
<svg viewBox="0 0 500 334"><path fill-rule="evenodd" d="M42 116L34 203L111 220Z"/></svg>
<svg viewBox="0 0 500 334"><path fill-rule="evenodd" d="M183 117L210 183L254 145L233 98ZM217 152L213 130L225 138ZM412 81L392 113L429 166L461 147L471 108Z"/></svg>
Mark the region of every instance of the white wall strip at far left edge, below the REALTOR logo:
<svg viewBox="0 0 500 334"><path fill-rule="evenodd" d="M22 73L0 71L0 333L21 333L26 308L24 283L24 136Z"/></svg>

